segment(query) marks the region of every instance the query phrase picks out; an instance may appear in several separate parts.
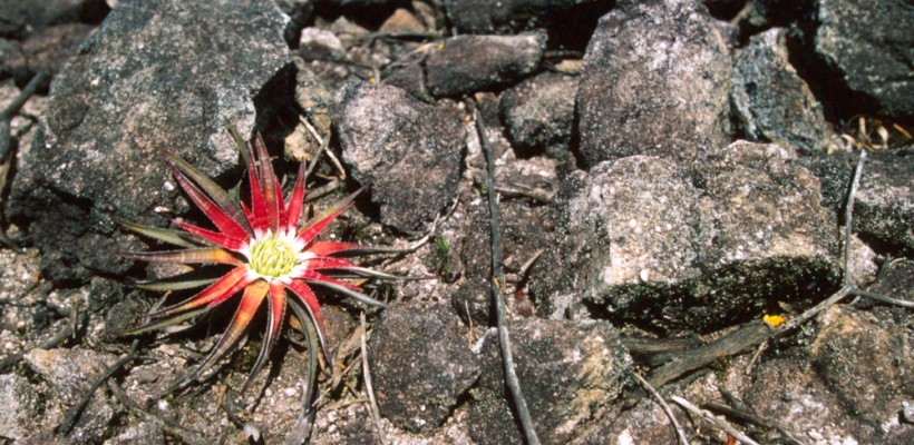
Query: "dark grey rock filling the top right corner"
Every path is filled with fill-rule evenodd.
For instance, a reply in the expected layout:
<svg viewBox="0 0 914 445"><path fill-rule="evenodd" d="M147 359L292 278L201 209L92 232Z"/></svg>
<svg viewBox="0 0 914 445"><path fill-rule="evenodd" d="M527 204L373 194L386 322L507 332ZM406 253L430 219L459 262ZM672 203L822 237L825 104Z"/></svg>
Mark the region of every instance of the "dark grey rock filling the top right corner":
<svg viewBox="0 0 914 445"><path fill-rule="evenodd" d="M914 116L914 9L903 0L820 0L815 51L878 111ZM824 80L830 80L825 78Z"/></svg>

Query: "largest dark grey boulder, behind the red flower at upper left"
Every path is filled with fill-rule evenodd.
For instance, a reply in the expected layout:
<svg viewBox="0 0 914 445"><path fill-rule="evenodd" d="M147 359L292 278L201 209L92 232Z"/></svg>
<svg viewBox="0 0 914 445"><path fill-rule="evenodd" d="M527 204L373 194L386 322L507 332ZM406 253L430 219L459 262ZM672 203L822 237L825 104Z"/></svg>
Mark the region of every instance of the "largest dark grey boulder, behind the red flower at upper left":
<svg viewBox="0 0 914 445"><path fill-rule="evenodd" d="M163 226L176 208L157 150L175 150L210 176L237 164L225 119L252 129L254 96L288 59L284 26L272 2L118 4L54 79L12 186L8 215L57 256L48 275L129 267L107 255L123 246L113 220ZM216 49L218 57L198 57Z"/></svg>

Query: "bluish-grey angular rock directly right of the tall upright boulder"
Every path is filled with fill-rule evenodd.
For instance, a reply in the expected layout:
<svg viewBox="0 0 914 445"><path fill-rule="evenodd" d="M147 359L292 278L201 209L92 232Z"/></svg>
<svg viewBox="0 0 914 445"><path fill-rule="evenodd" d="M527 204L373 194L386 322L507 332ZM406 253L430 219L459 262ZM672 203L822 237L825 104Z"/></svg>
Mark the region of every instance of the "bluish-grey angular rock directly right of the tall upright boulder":
<svg viewBox="0 0 914 445"><path fill-rule="evenodd" d="M775 28L753 36L739 51L733 63L733 105L749 139L820 151L828 145L828 123L790 65L786 39L786 31Z"/></svg>

